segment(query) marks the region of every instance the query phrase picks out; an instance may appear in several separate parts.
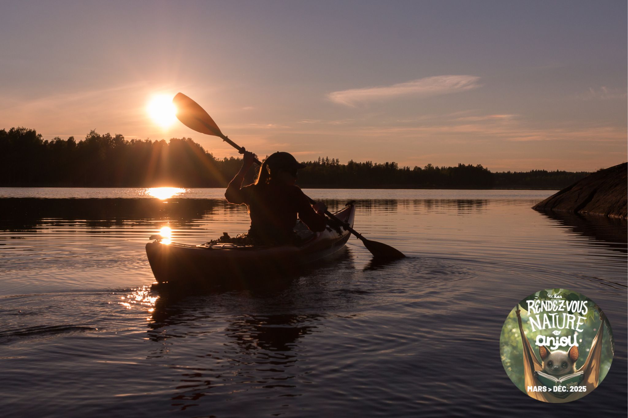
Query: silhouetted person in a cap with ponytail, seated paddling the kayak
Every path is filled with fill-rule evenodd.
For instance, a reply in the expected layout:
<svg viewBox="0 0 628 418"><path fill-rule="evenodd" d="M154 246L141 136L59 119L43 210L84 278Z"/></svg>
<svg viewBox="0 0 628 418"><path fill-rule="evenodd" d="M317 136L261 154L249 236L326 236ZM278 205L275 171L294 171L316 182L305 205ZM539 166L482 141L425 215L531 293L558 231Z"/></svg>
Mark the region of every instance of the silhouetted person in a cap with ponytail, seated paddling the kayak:
<svg viewBox="0 0 628 418"><path fill-rule="evenodd" d="M227 186L227 202L246 204L251 216L249 237L256 243L267 245L298 244L294 231L296 217L310 231L324 231L327 220L323 202L314 206L295 185L298 169L305 167L288 152L271 154L259 169L257 180L242 187L244 175L254 164L256 155L244 150L242 168Z"/></svg>

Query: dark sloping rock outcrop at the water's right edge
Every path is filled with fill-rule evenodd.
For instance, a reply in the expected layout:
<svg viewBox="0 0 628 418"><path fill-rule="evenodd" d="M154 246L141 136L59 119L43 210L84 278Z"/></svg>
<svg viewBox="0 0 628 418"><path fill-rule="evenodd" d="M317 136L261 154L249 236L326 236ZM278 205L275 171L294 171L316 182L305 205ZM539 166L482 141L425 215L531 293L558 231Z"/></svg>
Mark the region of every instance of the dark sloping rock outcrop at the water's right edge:
<svg viewBox="0 0 628 418"><path fill-rule="evenodd" d="M624 163L588 175L532 209L626 219L627 191L628 163Z"/></svg>

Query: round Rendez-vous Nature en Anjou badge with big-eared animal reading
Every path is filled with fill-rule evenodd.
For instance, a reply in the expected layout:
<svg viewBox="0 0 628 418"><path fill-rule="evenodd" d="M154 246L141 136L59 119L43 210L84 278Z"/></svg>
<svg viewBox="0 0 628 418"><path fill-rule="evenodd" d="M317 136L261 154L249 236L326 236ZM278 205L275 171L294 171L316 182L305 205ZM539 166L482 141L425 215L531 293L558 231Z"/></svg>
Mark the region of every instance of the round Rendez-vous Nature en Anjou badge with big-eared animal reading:
<svg viewBox="0 0 628 418"><path fill-rule="evenodd" d="M508 314L499 352L506 374L543 402L571 402L598 387L613 360L613 333L604 312L566 289L541 290Z"/></svg>

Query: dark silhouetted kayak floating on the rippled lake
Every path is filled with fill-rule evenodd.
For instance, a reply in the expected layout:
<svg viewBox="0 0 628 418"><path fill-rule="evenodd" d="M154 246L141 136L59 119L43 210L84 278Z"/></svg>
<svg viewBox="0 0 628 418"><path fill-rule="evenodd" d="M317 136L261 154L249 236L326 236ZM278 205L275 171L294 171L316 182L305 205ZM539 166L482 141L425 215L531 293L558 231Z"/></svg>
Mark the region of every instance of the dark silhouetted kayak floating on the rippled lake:
<svg viewBox="0 0 628 418"><path fill-rule="evenodd" d="M334 214L353 227L354 202ZM300 246L250 246L230 243L197 246L170 243L158 237L146 244L146 255L158 284L205 285L246 284L262 275L281 278L298 272L301 266L325 258L343 248L350 232L328 222L325 231L312 233L300 221L295 227ZM152 237L151 237L152 238Z"/></svg>

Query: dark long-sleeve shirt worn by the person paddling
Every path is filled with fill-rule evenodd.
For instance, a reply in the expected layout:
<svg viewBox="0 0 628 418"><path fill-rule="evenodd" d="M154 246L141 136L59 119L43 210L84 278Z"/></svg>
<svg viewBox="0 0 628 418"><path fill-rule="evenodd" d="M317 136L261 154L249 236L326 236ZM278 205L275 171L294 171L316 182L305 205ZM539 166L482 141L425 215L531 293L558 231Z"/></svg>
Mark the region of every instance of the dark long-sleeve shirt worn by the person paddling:
<svg viewBox="0 0 628 418"><path fill-rule="evenodd" d="M251 233L264 241L290 243L297 215L310 231L323 231L325 217L312 209L310 201L296 185L270 182L241 187L243 178L231 180L225 197L232 204L246 204L251 216Z"/></svg>

